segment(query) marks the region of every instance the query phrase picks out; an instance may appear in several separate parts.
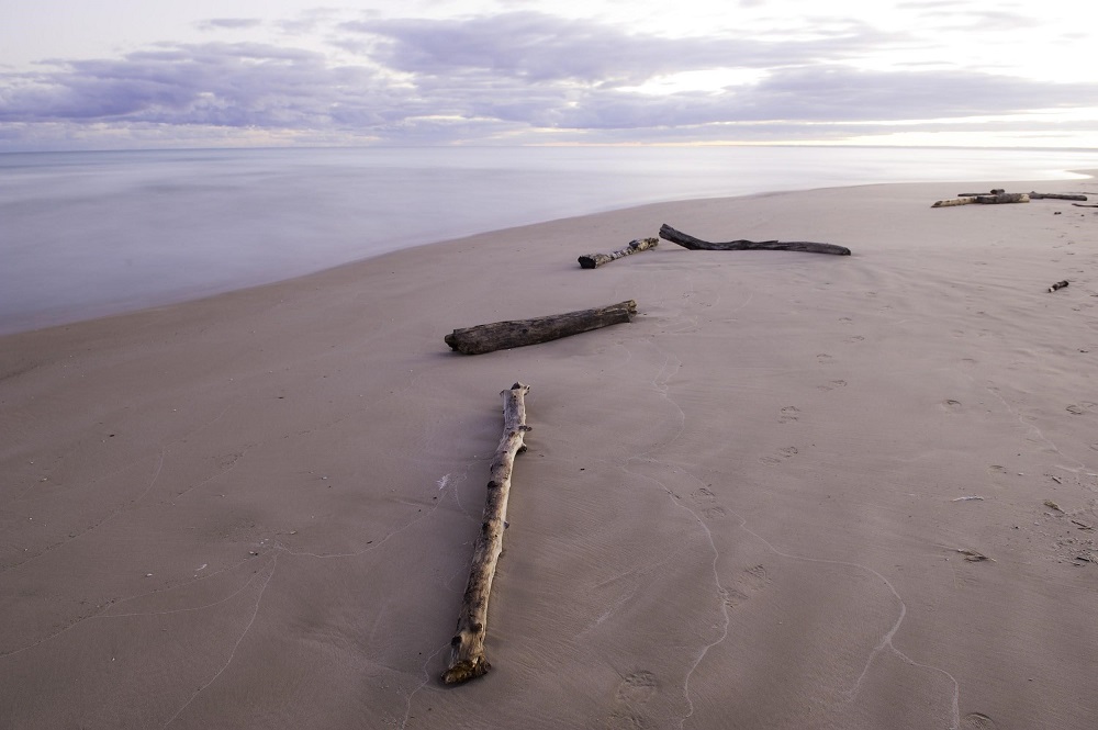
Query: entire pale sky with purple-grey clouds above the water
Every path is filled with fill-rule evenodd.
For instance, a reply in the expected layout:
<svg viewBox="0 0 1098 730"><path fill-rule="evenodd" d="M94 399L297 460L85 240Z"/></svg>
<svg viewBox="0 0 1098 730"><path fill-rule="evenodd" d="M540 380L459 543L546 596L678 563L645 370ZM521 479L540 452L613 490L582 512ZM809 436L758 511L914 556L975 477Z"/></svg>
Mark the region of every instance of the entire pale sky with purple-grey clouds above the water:
<svg viewBox="0 0 1098 730"><path fill-rule="evenodd" d="M0 151L1098 148L1091 0L0 0Z"/></svg>

